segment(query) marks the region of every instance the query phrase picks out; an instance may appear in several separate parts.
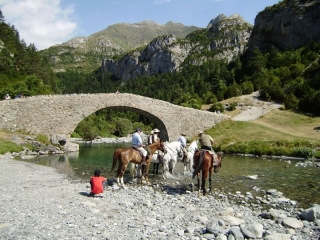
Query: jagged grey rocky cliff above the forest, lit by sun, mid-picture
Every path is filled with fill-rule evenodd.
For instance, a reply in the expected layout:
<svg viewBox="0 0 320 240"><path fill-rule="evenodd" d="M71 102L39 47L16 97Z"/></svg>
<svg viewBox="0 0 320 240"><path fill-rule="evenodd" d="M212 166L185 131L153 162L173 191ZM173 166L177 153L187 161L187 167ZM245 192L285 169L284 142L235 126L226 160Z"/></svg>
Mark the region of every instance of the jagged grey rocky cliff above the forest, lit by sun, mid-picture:
<svg viewBox="0 0 320 240"><path fill-rule="evenodd" d="M195 65L208 59L230 62L244 51L251 30L252 26L240 15L221 14L211 20L206 29L195 31L185 39L160 36L142 51L133 51L120 60L103 60L101 69L115 79L130 80L179 71L184 61Z"/></svg>

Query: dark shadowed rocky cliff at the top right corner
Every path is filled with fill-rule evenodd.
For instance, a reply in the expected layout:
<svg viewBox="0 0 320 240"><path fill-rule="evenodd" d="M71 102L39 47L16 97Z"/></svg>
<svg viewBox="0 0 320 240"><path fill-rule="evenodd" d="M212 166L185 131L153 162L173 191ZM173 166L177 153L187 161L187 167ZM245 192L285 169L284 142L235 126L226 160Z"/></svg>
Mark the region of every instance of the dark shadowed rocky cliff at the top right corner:
<svg viewBox="0 0 320 240"><path fill-rule="evenodd" d="M320 1L286 0L260 12L248 47L296 49L320 41Z"/></svg>

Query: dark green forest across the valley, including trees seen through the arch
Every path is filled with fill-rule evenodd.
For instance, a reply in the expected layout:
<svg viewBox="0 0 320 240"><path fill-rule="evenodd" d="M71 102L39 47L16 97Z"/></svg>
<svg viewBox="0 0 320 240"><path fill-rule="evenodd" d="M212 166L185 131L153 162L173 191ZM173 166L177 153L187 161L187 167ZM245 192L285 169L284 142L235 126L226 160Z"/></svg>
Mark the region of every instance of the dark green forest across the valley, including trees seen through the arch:
<svg viewBox="0 0 320 240"><path fill-rule="evenodd" d="M192 34L194 39L196 34ZM208 60L195 66L186 59L180 72L130 81L115 80L100 69L54 73L48 56L33 44L27 46L0 10L0 97L119 90L196 109L212 104L210 111L224 111L220 101L260 91L262 98L284 103L285 109L320 116L319 50L319 42L310 42L299 49L247 51L230 63ZM137 126L146 130L155 127L132 112L104 109L83 120L74 135L85 139L126 136Z"/></svg>

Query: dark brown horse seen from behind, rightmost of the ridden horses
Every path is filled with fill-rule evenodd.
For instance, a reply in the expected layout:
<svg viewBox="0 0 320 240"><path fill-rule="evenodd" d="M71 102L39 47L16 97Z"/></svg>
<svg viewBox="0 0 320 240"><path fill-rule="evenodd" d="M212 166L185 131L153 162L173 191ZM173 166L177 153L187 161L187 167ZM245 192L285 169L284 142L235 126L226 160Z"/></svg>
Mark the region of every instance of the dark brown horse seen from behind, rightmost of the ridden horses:
<svg viewBox="0 0 320 240"><path fill-rule="evenodd" d="M199 150L195 152L193 156L194 160L194 171L192 175L192 179L197 175L198 177L198 196L200 197L200 190L202 189L203 195L206 195L206 179L208 177L209 173L209 191L211 192L211 175L212 175L212 169L214 169L214 172L219 172L219 169L221 168L221 161L222 161L221 155L216 155L214 158L212 154L210 154L207 150ZM202 180L201 180L201 186L200 186L200 172L202 173Z"/></svg>

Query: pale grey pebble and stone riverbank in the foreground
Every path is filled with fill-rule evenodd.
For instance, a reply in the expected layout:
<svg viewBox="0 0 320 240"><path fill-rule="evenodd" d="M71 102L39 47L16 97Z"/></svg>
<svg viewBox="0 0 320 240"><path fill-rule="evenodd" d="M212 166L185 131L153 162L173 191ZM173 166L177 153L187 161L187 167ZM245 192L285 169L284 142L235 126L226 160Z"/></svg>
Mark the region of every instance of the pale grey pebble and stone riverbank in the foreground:
<svg viewBox="0 0 320 240"><path fill-rule="evenodd" d="M109 186L88 197L89 183L56 169L0 155L1 239L317 239L319 222L287 211L252 210L222 193L150 186Z"/></svg>

